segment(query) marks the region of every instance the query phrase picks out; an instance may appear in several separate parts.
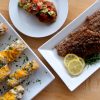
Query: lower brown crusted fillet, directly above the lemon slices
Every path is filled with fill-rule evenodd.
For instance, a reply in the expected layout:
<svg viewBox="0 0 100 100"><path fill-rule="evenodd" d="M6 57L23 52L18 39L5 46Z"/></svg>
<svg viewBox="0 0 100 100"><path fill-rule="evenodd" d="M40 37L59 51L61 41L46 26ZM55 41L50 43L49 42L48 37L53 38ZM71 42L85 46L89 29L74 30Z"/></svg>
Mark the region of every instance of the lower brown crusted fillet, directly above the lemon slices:
<svg viewBox="0 0 100 100"><path fill-rule="evenodd" d="M66 38L57 45L57 52L60 56L66 56L68 53L74 53L80 57L100 52L100 33L90 30L84 30L70 38Z"/></svg>

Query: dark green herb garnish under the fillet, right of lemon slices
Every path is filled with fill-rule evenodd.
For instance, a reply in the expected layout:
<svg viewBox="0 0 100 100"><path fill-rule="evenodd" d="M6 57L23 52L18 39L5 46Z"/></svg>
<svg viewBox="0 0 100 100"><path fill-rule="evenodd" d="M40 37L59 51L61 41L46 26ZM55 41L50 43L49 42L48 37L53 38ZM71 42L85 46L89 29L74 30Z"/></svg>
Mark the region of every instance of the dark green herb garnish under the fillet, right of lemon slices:
<svg viewBox="0 0 100 100"><path fill-rule="evenodd" d="M85 59L85 63L87 65L92 65L92 64L95 64L96 62L98 62L99 60L100 60L100 53L97 53L97 54L93 54L91 56L88 56Z"/></svg>

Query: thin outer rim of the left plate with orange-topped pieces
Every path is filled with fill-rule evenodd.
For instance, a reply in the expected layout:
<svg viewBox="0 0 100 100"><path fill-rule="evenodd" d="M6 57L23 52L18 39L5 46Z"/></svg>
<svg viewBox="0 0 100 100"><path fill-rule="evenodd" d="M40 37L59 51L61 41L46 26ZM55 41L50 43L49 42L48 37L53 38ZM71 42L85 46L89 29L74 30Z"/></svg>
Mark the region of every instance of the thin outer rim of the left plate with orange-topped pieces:
<svg viewBox="0 0 100 100"><path fill-rule="evenodd" d="M38 91L31 99L33 99L37 94L39 94L41 91L43 91L53 80L55 79L55 76L52 74L52 72L48 69L48 67L40 60L40 58L37 56L37 54L30 48L30 46L22 39L22 37L17 33L17 31L11 26L11 24L7 21L7 19L3 16L3 14L0 13L0 17L3 18L3 20L7 23L7 25L11 28L11 30L14 31L14 33L18 36L21 41L24 42L24 44L27 46L27 48L31 51L31 53L36 57L37 61L44 67L44 69L49 73L50 82L48 82L42 89Z"/></svg>

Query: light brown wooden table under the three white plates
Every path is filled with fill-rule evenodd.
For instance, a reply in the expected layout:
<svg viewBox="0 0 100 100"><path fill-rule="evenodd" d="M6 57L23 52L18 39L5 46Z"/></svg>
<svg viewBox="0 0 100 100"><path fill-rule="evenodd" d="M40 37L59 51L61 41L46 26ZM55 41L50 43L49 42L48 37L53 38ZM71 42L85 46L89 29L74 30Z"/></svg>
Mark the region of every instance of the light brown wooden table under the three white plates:
<svg viewBox="0 0 100 100"><path fill-rule="evenodd" d="M66 26L69 22L71 22L93 2L95 2L95 0L69 0L69 15L63 27ZM9 0L0 0L0 12L11 23L8 14L8 4ZM70 92L68 88L64 85L64 83L61 81L61 79L58 77L58 75L53 71L53 69L47 64L47 62L37 51L37 48L41 46L44 42L46 42L48 39L50 39L52 36L35 39L26 37L22 34L20 35L35 51L35 53L41 58L45 65L48 66L48 68L56 77L56 79L39 95L37 95L34 100L100 100L100 70L93 74L74 92Z"/></svg>

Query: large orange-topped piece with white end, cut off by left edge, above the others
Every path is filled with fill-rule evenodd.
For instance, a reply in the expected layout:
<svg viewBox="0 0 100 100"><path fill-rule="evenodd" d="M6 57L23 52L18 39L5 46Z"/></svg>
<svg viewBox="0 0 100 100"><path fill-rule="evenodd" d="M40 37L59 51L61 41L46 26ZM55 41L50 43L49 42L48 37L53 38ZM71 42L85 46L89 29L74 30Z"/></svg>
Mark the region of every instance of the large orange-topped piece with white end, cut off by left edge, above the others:
<svg viewBox="0 0 100 100"><path fill-rule="evenodd" d="M5 50L0 51L0 62L2 63L10 63L16 60L21 53L26 48L26 45L20 41L17 40L14 43L12 43L10 46L8 46Z"/></svg>

